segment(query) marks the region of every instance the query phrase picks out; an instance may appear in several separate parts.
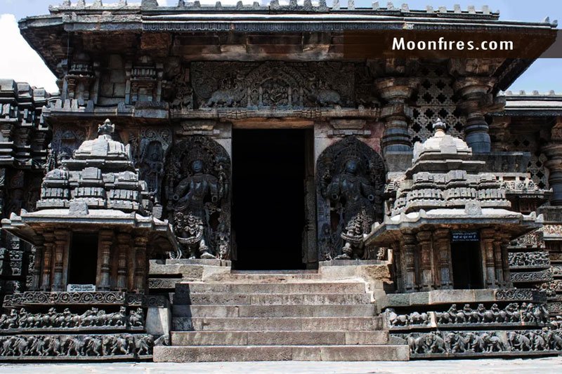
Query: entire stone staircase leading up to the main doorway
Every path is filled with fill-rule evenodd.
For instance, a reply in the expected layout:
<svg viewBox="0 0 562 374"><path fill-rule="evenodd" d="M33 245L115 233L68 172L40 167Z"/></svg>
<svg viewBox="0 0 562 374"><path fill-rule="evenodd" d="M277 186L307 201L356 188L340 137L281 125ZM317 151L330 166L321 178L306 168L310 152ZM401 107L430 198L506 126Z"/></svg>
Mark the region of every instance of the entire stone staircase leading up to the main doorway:
<svg viewBox="0 0 562 374"><path fill-rule="evenodd" d="M405 361L391 345L365 282L320 274L244 272L178 283L171 346L157 362Z"/></svg>

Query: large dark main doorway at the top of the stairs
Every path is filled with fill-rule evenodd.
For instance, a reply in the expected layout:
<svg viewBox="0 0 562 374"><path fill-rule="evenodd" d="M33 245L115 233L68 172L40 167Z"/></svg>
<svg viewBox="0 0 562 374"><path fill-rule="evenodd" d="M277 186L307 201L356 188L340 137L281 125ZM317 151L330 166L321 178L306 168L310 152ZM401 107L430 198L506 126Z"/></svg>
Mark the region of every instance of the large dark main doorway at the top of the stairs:
<svg viewBox="0 0 562 374"><path fill-rule="evenodd" d="M233 131L235 269L304 269L306 130Z"/></svg>

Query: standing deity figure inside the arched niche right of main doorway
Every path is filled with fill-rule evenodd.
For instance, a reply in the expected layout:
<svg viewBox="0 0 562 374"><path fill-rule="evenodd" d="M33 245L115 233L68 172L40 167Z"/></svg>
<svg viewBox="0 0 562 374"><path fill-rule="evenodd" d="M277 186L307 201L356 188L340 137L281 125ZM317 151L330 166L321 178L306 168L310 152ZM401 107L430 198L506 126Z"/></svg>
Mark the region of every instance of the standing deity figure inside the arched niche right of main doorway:
<svg viewBox="0 0 562 374"><path fill-rule="evenodd" d="M341 239L344 246L335 260L360 259L364 255L363 234L370 232L374 222L375 189L359 175L359 160L348 159L344 170L332 178L324 176L324 195L330 208L340 215Z"/></svg>

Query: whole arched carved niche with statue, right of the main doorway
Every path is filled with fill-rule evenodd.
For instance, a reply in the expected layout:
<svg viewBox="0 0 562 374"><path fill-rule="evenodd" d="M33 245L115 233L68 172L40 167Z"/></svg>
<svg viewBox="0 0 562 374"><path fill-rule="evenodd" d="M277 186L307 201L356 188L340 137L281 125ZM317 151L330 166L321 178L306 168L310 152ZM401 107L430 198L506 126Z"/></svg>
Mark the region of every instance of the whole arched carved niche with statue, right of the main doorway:
<svg viewBox="0 0 562 374"><path fill-rule="evenodd" d="M362 258L362 235L384 215L384 161L348 136L327 147L316 164L319 258Z"/></svg>

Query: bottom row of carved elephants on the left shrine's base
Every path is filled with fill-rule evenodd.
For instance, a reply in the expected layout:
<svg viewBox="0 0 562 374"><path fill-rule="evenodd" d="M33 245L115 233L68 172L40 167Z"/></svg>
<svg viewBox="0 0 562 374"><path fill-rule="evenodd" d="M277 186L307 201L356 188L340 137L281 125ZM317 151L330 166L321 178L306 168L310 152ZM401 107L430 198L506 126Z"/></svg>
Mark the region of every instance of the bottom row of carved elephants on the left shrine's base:
<svg viewBox="0 0 562 374"><path fill-rule="evenodd" d="M0 356L148 356L152 335L8 335L0 337Z"/></svg>

